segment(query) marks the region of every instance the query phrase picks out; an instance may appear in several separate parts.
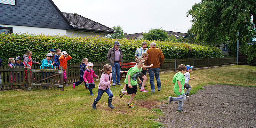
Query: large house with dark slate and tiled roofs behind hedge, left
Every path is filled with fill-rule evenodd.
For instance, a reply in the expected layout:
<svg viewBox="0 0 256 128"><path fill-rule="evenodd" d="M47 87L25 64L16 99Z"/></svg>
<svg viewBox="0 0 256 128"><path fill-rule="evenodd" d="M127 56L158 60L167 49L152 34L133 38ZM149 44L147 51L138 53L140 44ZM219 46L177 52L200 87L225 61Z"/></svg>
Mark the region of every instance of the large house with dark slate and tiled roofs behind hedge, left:
<svg viewBox="0 0 256 128"><path fill-rule="evenodd" d="M52 0L1 0L0 33L105 36L117 33L78 14L60 12Z"/></svg>

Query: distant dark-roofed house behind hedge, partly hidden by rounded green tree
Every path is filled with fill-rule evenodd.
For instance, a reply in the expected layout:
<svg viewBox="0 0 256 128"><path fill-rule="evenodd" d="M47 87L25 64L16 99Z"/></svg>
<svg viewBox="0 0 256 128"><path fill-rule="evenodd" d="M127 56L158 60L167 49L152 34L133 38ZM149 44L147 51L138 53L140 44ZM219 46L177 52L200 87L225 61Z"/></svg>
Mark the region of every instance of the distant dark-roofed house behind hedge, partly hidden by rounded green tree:
<svg viewBox="0 0 256 128"><path fill-rule="evenodd" d="M173 35L175 36L177 39L180 38L185 38L185 36L187 35L187 33L182 33L182 32L173 32L173 31L165 31L167 32L167 34L169 36ZM134 34L128 34L124 33L124 35L126 36L127 39L134 39L134 40L139 40L141 38L143 38L143 33L134 33Z"/></svg>

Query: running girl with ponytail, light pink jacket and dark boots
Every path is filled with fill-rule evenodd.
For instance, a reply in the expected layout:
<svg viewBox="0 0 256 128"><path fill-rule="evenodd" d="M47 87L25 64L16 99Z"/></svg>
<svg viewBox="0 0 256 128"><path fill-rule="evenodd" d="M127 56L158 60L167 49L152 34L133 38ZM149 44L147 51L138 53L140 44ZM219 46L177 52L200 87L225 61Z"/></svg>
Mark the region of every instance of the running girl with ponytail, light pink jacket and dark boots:
<svg viewBox="0 0 256 128"><path fill-rule="evenodd" d="M100 83L99 83L98 96L97 98L95 98L92 104L93 109L97 109L96 104L99 102L104 92L108 94L108 107L110 107L111 109L115 108L111 103L113 99L113 93L110 90L111 84L113 83L113 80L111 80L112 78L111 72L112 72L112 67L110 65L106 64L103 66L103 69L100 72L101 77L100 77Z"/></svg>

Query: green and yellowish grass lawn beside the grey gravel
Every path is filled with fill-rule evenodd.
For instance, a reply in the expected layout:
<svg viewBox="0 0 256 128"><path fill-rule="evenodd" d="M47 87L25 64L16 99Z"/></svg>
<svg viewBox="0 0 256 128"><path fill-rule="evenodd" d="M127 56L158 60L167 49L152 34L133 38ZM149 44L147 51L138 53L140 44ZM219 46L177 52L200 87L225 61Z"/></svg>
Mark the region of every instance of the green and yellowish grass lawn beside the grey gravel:
<svg viewBox="0 0 256 128"><path fill-rule="evenodd" d="M203 89L207 84L234 84L256 87L256 67L233 65L220 68L193 70L190 77L192 86L190 94ZM99 75L99 74L98 74ZM73 89L72 84L57 90L7 90L0 92L0 127L8 128L158 128L162 124L153 119L164 116L157 105L165 103L168 95L173 93L172 77L174 72L162 73L161 92L140 92L134 98L135 108L128 108L130 96L119 98L123 86L111 86L114 94L112 104L108 107L108 95L103 94L97 110L92 103L97 97L99 81L95 81L95 96L89 95L84 83ZM122 79L122 84L124 84ZM156 81L155 81L156 84ZM149 77L145 87L150 91ZM155 85L156 86L156 85ZM232 91L232 90L230 90ZM193 96L193 95L192 95Z"/></svg>

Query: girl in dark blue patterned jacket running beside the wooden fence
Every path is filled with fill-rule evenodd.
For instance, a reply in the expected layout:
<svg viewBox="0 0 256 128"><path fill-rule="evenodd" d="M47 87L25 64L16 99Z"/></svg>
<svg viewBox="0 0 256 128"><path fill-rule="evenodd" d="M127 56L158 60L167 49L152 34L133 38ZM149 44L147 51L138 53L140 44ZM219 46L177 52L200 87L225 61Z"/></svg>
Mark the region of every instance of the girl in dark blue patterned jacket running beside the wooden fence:
<svg viewBox="0 0 256 128"><path fill-rule="evenodd" d="M80 81L77 81L76 83L73 83L73 88L75 88L76 86L78 86L79 84L81 84L84 81L84 71L86 70L86 66L88 63L88 59L84 58L82 60L82 64L80 64ZM84 86L85 88L87 88L88 85L86 85L86 83L84 82Z"/></svg>

